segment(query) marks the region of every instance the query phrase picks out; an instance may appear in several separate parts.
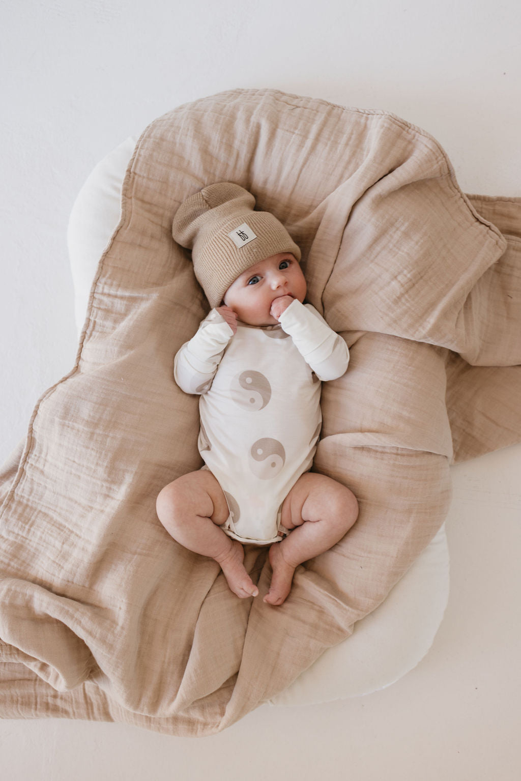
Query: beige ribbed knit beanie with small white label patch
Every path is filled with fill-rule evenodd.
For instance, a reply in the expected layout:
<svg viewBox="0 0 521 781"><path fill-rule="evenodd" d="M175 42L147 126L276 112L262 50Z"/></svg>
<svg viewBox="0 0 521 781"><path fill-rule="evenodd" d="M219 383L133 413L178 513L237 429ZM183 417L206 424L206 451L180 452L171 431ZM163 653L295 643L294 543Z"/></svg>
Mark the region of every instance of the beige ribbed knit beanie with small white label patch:
<svg viewBox="0 0 521 781"><path fill-rule="evenodd" d="M177 209L172 235L191 249L194 273L212 307L228 287L260 260L301 251L277 217L255 212L255 198L233 182L219 182L191 195Z"/></svg>

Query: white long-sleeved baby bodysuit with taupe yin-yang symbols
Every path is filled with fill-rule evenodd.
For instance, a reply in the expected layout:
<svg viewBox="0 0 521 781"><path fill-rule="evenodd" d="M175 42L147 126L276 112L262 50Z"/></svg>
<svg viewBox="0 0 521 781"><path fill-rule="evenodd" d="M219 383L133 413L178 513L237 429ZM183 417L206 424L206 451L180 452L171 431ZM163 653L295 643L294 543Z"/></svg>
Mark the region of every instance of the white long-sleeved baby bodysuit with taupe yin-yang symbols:
<svg viewBox="0 0 521 781"><path fill-rule="evenodd" d="M320 380L342 376L348 361L344 340L296 299L278 325L239 321L235 335L212 309L177 352L177 384L201 396L202 469L227 498L221 529L230 537L255 544L284 537L282 502L311 468L319 440Z"/></svg>

